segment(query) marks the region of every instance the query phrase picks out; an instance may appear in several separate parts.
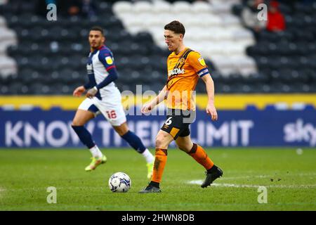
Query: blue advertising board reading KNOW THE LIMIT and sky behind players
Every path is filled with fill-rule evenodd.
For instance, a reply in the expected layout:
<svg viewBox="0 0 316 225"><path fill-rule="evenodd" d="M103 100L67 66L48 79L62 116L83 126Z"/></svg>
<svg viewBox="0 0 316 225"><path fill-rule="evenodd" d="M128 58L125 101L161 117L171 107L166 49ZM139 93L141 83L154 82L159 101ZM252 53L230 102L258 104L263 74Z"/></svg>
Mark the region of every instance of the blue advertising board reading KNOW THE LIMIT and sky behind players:
<svg viewBox="0 0 316 225"><path fill-rule="evenodd" d="M74 113L60 108L0 109L0 147L83 147L70 126ZM153 147L166 116L127 115L127 119L130 129L145 146ZM100 147L128 146L102 115L88 122L86 127ZM219 110L216 122L211 121L204 110L197 110L190 130L192 140L205 147L316 146L316 110Z"/></svg>

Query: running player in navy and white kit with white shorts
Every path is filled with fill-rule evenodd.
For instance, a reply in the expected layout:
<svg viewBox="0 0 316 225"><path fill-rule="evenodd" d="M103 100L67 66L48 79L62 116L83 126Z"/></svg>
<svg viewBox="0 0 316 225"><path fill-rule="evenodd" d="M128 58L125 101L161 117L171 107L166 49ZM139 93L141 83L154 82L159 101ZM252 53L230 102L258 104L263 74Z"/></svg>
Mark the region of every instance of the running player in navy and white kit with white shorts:
<svg viewBox="0 0 316 225"><path fill-rule="evenodd" d="M117 79L113 54L104 45L105 36L101 27L92 27L88 41L91 52L88 55L86 65L89 82L74 90L74 96L81 96L86 91L86 99L82 101L74 115L72 128L79 139L92 153L92 162L86 167L86 171L96 169L98 165L106 162L107 158L94 143L91 134L84 125L96 115L102 113L112 125L117 134L127 141L138 153L141 153L147 162L147 178L152 177L154 157L143 145L136 134L129 130L126 123L126 115L121 105L121 93L114 80Z"/></svg>

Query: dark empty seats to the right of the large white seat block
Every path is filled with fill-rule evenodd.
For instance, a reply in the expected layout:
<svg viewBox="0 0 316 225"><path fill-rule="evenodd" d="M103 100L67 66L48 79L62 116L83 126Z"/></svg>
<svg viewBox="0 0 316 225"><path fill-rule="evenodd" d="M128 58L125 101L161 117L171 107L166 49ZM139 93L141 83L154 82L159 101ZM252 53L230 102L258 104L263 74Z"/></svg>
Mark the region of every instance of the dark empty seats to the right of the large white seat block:
<svg viewBox="0 0 316 225"><path fill-rule="evenodd" d="M262 31L246 52L256 60L258 70L268 78L272 91L316 92L316 3L281 4L287 29Z"/></svg>

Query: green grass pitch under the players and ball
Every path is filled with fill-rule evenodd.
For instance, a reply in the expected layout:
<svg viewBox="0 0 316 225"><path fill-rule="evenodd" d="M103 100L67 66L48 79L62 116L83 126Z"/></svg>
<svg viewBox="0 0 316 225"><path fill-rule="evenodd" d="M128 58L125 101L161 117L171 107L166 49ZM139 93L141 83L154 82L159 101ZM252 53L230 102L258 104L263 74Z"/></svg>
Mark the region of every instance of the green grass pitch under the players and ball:
<svg viewBox="0 0 316 225"><path fill-rule="evenodd" d="M153 150L152 150L153 151ZM131 149L103 149L107 163L85 172L91 154L84 149L1 149L0 210L316 210L316 149L209 148L224 171L213 186L201 188L204 168L180 150L170 149L162 193L139 194L146 186L143 157ZM131 177L128 193L112 193L114 172ZM48 186L57 203L46 201ZM258 203L258 186L268 203Z"/></svg>

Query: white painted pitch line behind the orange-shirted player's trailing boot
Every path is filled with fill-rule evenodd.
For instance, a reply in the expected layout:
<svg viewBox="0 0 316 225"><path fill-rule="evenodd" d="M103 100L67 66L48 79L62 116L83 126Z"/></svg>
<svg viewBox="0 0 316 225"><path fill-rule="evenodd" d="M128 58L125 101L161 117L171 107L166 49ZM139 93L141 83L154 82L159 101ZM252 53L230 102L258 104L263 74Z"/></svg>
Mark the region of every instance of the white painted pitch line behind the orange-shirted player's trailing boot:
<svg viewBox="0 0 316 225"><path fill-rule="evenodd" d="M187 184L198 184L201 185L203 180L193 180L188 181ZM251 184L218 184L213 183L211 186L218 186L218 187L232 187L232 188L258 188L260 186L265 186L267 188L313 188L316 187L316 184L305 184L305 185L251 185Z"/></svg>

